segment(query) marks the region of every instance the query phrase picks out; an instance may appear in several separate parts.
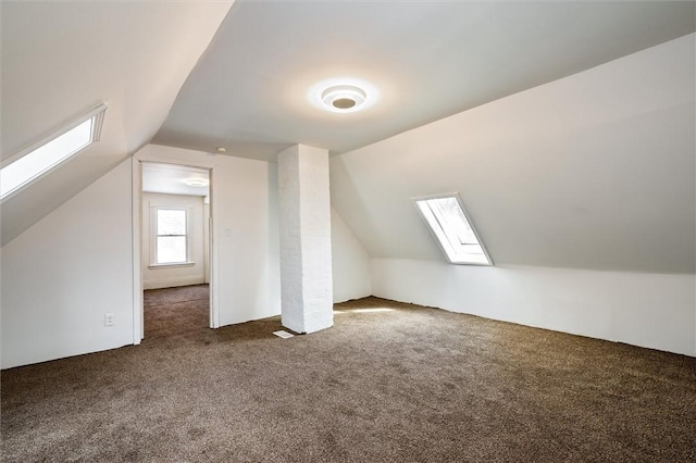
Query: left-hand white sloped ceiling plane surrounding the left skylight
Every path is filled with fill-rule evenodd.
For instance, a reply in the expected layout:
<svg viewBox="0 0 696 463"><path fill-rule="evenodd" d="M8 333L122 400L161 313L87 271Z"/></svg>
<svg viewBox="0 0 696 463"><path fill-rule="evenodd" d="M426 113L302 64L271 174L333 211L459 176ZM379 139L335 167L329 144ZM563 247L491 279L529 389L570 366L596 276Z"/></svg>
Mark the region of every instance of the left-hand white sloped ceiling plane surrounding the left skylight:
<svg viewBox="0 0 696 463"><path fill-rule="evenodd" d="M2 203L2 245L152 138L231 5L1 3L3 160L108 105L100 142Z"/></svg>

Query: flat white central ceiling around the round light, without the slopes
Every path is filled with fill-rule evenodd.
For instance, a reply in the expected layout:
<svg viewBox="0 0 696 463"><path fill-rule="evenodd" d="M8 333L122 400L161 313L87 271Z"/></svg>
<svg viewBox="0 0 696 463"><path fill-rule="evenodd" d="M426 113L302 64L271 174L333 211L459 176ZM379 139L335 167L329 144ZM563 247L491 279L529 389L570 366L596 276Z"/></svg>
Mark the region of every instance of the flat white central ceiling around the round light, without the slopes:
<svg viewBox="0 0 696 463"><path fill-rule="evenodd" d="M274 160L346 152L692 33L693 2L237 1L153 142ZM378 101L323 112L318 82Z"/></svg>

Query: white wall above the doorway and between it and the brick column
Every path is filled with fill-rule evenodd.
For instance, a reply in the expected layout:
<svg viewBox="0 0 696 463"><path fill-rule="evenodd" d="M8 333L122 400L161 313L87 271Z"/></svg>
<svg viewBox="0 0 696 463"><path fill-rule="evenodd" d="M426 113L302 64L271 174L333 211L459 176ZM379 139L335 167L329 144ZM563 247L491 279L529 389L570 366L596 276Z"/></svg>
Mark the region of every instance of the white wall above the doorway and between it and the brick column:
<svg viewBox="0 0 696 463"><path fill-rule="evenodd" d="M214 325L279 314L277 166L158 145L134 160L211 170Z"/></svg>

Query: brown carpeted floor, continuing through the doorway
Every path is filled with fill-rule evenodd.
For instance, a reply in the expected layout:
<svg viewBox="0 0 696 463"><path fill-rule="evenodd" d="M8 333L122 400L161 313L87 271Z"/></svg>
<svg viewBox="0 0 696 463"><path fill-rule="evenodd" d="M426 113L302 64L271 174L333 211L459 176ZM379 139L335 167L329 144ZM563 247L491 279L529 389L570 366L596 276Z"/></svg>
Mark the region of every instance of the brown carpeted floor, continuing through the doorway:
<svg viewBox="0 0 696 463"><path fill-rule="evenodd" d="M158 291L142 345L2 372L3 461L696 461L694 358L376 298L281 339Z"/></svg>

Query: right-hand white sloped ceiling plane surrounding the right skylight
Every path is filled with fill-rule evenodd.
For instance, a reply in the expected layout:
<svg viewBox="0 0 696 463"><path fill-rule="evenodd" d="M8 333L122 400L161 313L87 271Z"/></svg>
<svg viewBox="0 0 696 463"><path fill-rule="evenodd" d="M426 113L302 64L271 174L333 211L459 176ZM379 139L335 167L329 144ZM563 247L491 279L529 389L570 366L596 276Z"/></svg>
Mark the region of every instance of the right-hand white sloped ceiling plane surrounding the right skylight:
<svg viewBox="0 0 696 463"><path fill-rule="evenodd" d="M692 34L334 157L333 204L375 258L440 260L411 198L457 191L497 264L694 274L695 57Z"/></svg>

